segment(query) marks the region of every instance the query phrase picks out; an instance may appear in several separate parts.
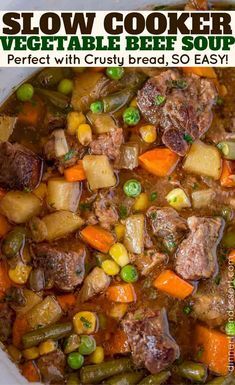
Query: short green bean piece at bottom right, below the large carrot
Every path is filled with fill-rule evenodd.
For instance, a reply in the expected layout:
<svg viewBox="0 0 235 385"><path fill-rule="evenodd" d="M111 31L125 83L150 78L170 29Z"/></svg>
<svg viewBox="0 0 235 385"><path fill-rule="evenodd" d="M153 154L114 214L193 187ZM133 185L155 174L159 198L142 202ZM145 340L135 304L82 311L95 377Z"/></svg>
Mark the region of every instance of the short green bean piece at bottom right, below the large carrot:
<svg viewBox="0 0 235 385"><path fill-rule="evenodd" d="M203 364L185 361L175 367L175 371L183 378L191 381L205 382L207 378L207 368Z"/></svg>

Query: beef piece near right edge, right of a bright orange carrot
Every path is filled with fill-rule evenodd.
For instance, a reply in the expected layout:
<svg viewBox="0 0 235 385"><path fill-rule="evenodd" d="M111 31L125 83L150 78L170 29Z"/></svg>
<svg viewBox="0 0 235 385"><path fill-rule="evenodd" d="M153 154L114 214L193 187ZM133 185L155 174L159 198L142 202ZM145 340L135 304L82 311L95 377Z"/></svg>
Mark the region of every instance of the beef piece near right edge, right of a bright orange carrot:
<svg viewBox="0 0 235 385"><path fill-rule="evenodd" d="M191 316L207 323L211 327L223 325L228 318L228 274L227 270L219 275L220 280L206 280L199 284L192 297Z"/></svg>

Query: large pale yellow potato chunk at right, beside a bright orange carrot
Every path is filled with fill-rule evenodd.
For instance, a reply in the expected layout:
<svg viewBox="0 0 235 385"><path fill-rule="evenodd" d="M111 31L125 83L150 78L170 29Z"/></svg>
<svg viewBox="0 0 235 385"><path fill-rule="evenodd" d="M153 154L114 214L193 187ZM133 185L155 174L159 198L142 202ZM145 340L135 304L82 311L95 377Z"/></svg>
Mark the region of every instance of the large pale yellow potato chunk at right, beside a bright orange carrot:
<svg viewBox="0 0 235 385"><path fill-rule="evenodd" d="M187 172L217 180L222 168L220 152L215 146L197 140L192 144L183 168Z"/></svg>

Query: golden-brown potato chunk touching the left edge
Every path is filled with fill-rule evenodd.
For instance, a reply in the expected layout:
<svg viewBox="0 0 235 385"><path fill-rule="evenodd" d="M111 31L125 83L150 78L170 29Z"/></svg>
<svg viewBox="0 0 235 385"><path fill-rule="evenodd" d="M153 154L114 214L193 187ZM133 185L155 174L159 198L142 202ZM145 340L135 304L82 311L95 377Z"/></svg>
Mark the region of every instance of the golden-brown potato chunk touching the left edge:
<svg viewBox="0 0 235 385"><path fill-rule="evenodd" d="M41 201L34 194L9 191L0 201L0 211L9 221L25 223L41 211Z"/></svg>

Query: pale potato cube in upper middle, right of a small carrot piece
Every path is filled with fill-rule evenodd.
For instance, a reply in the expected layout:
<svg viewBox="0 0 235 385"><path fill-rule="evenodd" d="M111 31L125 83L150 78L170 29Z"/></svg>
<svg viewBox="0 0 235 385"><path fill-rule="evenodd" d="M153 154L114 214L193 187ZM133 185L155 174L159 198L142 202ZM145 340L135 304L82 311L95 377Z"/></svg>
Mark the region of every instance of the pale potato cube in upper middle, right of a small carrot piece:
<svg viewBox="0 0 235 385"><path fill-rule="evenodd" d="M83 167L91 190L115 186L116 177L106 155L84 156Z"/></svg>

